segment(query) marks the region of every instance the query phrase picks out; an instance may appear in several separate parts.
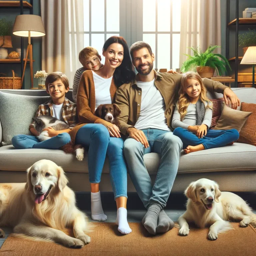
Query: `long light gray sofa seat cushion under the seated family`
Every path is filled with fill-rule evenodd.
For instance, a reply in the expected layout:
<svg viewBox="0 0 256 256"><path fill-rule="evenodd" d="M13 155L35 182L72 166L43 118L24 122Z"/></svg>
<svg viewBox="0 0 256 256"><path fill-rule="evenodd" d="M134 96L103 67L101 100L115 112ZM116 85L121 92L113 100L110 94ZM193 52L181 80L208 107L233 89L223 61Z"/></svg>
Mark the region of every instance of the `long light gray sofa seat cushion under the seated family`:
<svg viewBox="0 0 256 256"><path fill-rule="evenodd" d="M66 172L88 173L87 152L83 161L77 161L74 155L53 149L15 149L12 145L0 147L0 170L25 171L41 159L49 159L62 166ZM150 174L156 174L160 155L144 155L144 163ZM256 170L256 146L234 143L232 146L207 149L185 154L181 152L178 173L213 172L231 170ZM109 173L106 159L103 173Z"/></svg>

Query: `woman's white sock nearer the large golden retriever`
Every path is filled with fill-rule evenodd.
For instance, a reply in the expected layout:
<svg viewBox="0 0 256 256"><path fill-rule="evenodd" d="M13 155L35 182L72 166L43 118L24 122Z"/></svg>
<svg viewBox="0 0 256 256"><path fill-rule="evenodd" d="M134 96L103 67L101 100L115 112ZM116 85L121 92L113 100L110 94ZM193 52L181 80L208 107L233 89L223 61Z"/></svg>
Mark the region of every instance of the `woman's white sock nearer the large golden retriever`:
<svg viewBox="0 0 256 256"><path fill-rule="evenodd" d="M91 192L91 212L93 220L105 221L107 219L107 215L104 214L102 209L100 191L96 193Z"/></svg>

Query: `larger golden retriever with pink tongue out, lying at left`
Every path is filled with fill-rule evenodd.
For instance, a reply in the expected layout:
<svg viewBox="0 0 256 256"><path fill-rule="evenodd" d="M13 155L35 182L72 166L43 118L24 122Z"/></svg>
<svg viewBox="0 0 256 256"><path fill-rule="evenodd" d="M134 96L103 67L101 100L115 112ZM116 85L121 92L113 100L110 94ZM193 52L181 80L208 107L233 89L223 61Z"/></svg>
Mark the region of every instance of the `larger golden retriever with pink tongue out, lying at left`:
<svg viewBox="0 0 256 256"><path fill-rule="evenodd" d="M84 233L89 222L67 182L61 167L40 160L28 168L27 183L0 183L0 227L11 226L20 237L82 248L90 242ZM72 228L75 238L66 235L65 228Z"/></svg>

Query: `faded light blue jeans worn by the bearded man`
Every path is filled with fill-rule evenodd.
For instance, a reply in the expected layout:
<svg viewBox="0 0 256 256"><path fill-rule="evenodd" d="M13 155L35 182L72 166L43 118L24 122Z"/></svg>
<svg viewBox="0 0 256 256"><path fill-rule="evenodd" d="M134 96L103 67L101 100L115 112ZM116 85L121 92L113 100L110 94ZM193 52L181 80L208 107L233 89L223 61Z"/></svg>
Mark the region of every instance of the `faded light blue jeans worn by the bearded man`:
<svg viewBox="0 0 256 256"><path fill-rule="evenodd" d="M124 142L124 156L128 171L144 206L148 208L150 204L154 203L163 209L178 171L182 141L169 131L158 129L142 131L147 137L148 148L133 138L128 138ZM153 186L143 161L144 154L151 152L161 155L160 166Z"/></svg>

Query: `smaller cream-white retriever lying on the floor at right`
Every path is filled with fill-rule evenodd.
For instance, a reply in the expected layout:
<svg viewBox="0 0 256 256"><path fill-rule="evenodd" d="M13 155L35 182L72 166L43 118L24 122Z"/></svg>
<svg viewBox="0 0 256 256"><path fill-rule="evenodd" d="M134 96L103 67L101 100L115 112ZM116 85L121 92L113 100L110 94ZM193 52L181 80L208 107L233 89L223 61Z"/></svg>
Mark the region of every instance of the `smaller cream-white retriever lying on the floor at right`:
<svg viewBox="0 0 256 256"><path fill-rule="evenodd" d="M234 193L220 192L215 181L194 181L185 190L185 195L187 210L178 219L181 236L188 235L188 222L194 222L199 228L210 226L210 240L216 240L218 233L232 229L228 221L240 221L241 227L251 223L256 228L256 214L246 202Z"/></svg>

